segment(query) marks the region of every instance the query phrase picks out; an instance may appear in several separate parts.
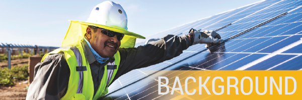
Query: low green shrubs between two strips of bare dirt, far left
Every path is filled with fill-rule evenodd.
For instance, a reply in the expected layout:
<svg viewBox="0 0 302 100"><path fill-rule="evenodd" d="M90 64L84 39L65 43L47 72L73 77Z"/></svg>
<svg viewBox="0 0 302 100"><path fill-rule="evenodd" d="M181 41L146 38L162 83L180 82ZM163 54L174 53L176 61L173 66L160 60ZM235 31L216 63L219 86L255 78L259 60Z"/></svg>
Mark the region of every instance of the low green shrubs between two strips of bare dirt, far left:
<svg viewBox="0 0 302 100"><path fill-rule="evenodd" d="M7 67L0 69L0 84L14 85L14 81L28 79L28 65L15 65L12 69Z"/></svg>

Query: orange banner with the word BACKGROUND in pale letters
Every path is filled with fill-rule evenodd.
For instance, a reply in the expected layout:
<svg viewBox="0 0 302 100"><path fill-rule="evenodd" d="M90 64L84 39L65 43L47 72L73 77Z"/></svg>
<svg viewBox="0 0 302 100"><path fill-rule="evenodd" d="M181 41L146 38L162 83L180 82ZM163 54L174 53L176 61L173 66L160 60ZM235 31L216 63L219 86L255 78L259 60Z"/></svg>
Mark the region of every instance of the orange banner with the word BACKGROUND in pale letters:
<svg viewBox="0 0 302 100"><path fill-rule="evenodd" d="M156 75L160 99L301 99L302 95L302 70L163 70Z"/></svg>

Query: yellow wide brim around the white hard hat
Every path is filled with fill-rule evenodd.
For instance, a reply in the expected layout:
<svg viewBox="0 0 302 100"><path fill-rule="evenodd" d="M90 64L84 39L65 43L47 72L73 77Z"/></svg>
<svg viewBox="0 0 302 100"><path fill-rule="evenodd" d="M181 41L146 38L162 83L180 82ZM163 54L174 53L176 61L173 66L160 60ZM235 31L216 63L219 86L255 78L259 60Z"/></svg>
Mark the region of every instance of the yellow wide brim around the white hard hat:
<svg viewBox="0 0 302 100"><path fill-rule="evenodd" d="M129 35L131 37L136 37L136 38L142 38L145 39L146 37L136 34L134 32L128 31L122 27L119 26L114 26L114 25L104 25L104 24L97 24L97 23L90 23L90 22L84 22L84 21L78 21L78 20L69 20L70 22L76 22L76 23L80 23L80 24L85 24L85 25L93 25L93 26L98 26L104 29L108 29L108 30L112 30L115 32L119 32L119 33L123 33L125 35Z"/></svg>

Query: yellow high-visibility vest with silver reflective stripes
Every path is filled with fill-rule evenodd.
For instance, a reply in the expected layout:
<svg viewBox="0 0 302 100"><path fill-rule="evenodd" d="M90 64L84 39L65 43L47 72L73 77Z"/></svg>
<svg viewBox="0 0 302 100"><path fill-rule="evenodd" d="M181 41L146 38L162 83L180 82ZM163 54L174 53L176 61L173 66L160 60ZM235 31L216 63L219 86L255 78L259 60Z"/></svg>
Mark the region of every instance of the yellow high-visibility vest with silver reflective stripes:
<svg viewBox="0 0 302 100"><path fill-rule="evenodd" d="M108 93L108 86L112 82L120 63L119 51L114 54L115 61L105 65L105 72L95 96L93 95L94 84L90 65L85 57L81 40L45 54L41 62L49 54L54 53L64 53L70 69L68 88L66 94L60 99L98 99Z"/></svg>

